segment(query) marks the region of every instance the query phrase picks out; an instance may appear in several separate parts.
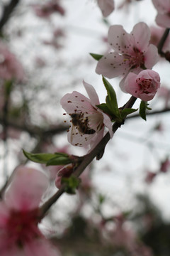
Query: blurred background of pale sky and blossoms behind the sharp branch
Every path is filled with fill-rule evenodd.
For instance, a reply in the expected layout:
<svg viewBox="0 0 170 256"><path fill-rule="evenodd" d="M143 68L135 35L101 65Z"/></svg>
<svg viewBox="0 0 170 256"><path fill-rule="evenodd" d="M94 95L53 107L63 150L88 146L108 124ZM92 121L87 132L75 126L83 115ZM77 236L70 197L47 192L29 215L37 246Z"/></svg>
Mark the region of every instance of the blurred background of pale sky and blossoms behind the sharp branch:
<svg viewBox="0 0 170 256"><path fill-rule="evenodd" d="M67 142L69 118L63 116L61 97L73 90L84 94L85 80L105 102L106 89L89 53L109 50L107 33L114 24L130 33L144 21L157 45L164 29L155 23L156 15L151 0L115 0L108 18L95 0L1 0L1 194L21 164L47 174L51 186L45 198L57 191L60 167L30 163L22 149L86 154ZM170 50L169 37L163 50ZM86 168L77 194L62 196L41 224L62 255L170 255L169 62L160 57L153 70L162 88L150 102L147 122L131 115L103 158ZM130 95L121 92L119 81L110 80L121 107ZM134 107L139 105L137 100Z"/></svg>

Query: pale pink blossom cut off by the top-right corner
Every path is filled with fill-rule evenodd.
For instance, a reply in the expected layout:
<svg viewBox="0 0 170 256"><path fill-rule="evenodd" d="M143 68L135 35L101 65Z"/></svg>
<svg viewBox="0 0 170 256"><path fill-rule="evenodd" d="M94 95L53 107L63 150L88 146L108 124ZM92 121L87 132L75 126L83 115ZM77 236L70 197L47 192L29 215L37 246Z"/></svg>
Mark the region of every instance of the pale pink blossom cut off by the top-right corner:
<svg viewBox="0 0 170 256"><path fill-rule="evenodd" d="M168 0L152 0L154 7L157 9L155 21L163 28L170 28L170 1Z"/></svg>

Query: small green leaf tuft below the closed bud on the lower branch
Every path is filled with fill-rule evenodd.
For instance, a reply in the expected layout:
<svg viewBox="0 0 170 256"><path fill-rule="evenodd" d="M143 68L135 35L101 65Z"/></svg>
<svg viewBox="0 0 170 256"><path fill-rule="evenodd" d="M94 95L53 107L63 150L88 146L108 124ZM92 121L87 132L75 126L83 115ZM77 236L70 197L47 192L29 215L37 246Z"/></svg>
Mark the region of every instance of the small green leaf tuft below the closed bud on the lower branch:
<svg viewBox="0 0 170 256"><path fill-rule="evenodd" d="M75 194L77 188L79 187L80 178L75 176L70 176L69 178L62 177L62 184L65 184L65 191L69 194Z"/></svg>

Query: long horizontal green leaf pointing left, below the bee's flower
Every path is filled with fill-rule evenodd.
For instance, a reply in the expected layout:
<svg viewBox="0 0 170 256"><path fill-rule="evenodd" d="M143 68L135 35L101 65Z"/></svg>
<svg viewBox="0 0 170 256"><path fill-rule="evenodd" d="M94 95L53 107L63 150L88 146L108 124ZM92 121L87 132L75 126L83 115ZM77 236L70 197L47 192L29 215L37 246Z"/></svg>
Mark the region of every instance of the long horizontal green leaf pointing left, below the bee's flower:
<svg viewBox="0 0 170 256"><path fill-rule="evenodd" d="M65 165L72 162L69 159L69 155L65 153L39 153L39 154L32 154L28 153L27 151L23 150L23 154L28 158L30 161L39 164L46 164L46 165Z"/></svg>

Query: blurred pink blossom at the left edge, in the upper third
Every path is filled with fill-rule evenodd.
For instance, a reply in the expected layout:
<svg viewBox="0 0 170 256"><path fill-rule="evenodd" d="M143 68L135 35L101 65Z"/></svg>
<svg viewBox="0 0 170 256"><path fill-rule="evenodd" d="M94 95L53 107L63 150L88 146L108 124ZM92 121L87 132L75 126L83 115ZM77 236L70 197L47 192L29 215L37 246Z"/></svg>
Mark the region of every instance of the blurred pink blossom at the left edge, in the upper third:
<svg viewBox="0 0 170 256"><path fill-rule="evenodd" d="M25 77L21 63L4 43L0 42L0 79L23 80Z"/></svg>

